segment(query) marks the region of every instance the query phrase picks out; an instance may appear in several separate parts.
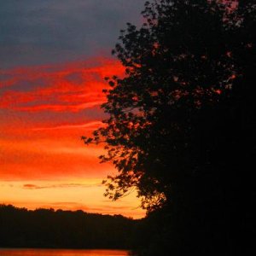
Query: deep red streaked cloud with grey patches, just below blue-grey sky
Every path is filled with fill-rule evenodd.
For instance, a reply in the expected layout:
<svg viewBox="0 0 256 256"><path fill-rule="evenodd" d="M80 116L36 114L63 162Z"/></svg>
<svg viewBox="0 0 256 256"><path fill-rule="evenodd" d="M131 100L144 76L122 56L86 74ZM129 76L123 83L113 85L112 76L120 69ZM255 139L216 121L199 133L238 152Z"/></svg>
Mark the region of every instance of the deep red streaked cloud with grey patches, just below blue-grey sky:
<svg viewBox="0 0 256 256"><path fill-rule="evenodd" d="M106 76L124 73L119 61L92 58L62 65L0 72L0 108L26 112L79 112L106 102Z"/></svg>

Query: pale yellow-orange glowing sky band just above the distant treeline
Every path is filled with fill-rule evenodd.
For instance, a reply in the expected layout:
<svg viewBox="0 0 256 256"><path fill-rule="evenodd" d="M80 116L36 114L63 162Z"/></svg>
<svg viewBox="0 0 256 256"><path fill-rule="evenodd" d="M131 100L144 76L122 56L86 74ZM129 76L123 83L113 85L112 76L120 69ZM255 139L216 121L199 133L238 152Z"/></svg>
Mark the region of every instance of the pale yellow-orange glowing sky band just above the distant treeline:
<svg viewBox="0 0 256 256"><path fill-rule="evenodd" d="M26 180L0 182L1 203L31 210L53 208L110 215L122 214L128 218L145 216L145 212L139 207L135 193L119 201L109 201L102 196L105 188L100 178L84 180L67 180L66 183L65 181Z"/></svg>

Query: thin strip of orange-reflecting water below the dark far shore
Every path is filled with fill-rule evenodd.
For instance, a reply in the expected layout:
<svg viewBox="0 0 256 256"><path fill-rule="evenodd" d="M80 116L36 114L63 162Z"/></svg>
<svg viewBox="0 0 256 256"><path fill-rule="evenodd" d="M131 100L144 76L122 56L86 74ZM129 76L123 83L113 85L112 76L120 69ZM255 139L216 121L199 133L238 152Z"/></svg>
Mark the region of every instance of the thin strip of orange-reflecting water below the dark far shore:
<svg viewBox="0 0 256 256"><path fill-rule="evenodd" d="M124 250L1 249L0 256L128 256Z"/></svg>

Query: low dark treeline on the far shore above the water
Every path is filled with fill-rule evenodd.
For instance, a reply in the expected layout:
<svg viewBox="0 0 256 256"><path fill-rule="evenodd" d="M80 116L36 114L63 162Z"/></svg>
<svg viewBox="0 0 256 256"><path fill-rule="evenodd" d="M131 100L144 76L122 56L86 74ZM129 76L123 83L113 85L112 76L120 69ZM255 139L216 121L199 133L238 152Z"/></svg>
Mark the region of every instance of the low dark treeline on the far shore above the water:
<svg viewBox="0 0 256 256"><path fill-rule="evenodd" d="M0 205L0 247L131 248L139 220Z"/></svg>

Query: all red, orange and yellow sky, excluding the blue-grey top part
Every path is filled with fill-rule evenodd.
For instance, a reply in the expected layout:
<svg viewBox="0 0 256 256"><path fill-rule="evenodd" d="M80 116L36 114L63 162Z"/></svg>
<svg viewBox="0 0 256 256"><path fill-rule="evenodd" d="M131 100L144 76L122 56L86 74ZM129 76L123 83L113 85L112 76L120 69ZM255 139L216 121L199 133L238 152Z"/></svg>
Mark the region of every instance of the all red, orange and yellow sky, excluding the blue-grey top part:
<svg viewBox="0 0 256 256"><path fill-rule="evenodd" d="M135 193L115 202L102 195L115 170L99 164L102 146L80 139L102 125L104 77L123 72L101 57L0 70L1 203L144 216Z"/></svg>

